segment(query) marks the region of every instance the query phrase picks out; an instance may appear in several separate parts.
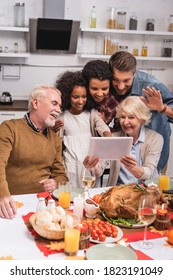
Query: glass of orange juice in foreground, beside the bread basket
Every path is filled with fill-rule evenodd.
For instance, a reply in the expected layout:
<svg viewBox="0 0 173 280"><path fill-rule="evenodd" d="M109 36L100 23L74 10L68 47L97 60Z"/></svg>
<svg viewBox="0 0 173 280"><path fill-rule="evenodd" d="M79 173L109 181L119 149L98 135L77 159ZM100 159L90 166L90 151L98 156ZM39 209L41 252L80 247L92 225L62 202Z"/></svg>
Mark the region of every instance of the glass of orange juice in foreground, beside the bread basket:
<svg viewBox="0 0 173 280"><path fill-rule="evenodd" d="M79 249L80 230L79 229L67 229L65 231L65 245L64 252L66 255L75 256Z"/></svg>

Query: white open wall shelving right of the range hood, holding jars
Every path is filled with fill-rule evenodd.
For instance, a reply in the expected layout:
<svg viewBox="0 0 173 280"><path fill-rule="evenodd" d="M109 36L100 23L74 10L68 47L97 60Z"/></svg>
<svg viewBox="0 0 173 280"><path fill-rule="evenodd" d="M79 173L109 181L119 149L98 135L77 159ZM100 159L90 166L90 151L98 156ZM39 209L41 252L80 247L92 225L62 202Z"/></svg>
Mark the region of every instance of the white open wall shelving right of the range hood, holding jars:
<svg viewBox="0 0 173 280"><path fill-rule="evenodd" d="M104 55L103 52L97 53L96 49L98 39L102 46L104 46L105 36L110 36L111 40L116 40L119 45L127 45L129 52L133 52L133 49L137 48L139 50L139 56L136 56L138 61L173 62L173 57L162 57L163 40L169 38L173 42L173 32L166 31L81 28L80 57L88 59L109 59L110 55ZM102 37L102 41L100 37ZM86 42L87 49L85 49ZM149 47L148 56L140 55L143 45Z"/></svg>

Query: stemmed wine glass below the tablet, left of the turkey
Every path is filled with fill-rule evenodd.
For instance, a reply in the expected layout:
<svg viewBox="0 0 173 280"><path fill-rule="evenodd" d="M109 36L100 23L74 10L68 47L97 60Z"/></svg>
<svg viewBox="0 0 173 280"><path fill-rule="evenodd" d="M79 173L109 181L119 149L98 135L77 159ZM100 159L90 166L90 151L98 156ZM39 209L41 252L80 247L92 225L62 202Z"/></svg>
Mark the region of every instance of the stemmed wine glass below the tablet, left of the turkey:
<svg viewBox="0 0 173 280"><path fill-rule="evenodd" d="M94 168L86 168L82 166L81 170L81 183L82 188L84 189L85 199L89 197L89 189L92 188L96 181L96 174Z"/></svg>

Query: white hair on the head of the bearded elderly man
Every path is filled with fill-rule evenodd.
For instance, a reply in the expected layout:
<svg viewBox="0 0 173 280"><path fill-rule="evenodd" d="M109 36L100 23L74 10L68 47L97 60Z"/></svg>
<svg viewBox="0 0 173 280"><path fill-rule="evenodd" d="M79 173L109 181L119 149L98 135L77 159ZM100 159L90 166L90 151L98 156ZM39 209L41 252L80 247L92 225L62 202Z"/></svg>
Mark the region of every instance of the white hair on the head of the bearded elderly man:
<svg viewBox="0 0 173 280"><path fill-rule="evenodd" d="M56 89L55 87L51 87L51 86L44 85L44 84L37 85L29 95L29 100L28 100L28 111L29 112L31 112L33 109L32 100L36 99L36 98L41 99L42 97L44 97L47 94L48 89L52 89L52 90L56 91L61 96L61 92L58 89Z"/></svg>

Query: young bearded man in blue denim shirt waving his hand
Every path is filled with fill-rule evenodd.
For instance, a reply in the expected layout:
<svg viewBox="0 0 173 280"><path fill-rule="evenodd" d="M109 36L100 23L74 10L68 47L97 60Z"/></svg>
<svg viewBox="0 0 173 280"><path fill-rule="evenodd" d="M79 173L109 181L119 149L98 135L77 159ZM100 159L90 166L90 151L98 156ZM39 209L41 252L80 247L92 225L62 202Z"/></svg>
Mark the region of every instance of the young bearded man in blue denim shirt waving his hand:
<svg viewBox="0 0 173 280"><path fill-rule="evenodd" d="M136 58L129 52L120 51L111 56L109 60L113 75L111 91L118 102L129 95L141 96L142 101L152 111L152 120L148 127L160 133L164 138L158 163L158 171L161 171L169 158L173 93L154 76L138 71L136 65Z"/></svg>

